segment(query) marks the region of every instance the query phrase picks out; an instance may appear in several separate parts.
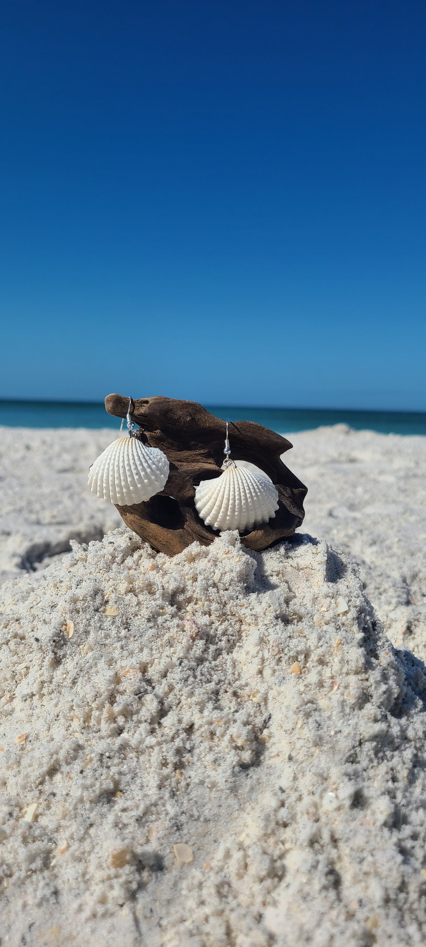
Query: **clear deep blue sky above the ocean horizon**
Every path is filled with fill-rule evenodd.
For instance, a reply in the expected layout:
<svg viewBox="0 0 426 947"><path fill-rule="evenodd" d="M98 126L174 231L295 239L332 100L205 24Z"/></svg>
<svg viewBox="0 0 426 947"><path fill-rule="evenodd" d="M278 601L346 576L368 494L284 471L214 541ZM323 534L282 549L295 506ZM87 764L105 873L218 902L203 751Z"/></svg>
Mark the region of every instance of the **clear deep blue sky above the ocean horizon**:
<svg viewBox="0 0 426 947"><path fill-rule="evenodd" d="M426 410L426 7L5 0L0 397Z"/></svg>

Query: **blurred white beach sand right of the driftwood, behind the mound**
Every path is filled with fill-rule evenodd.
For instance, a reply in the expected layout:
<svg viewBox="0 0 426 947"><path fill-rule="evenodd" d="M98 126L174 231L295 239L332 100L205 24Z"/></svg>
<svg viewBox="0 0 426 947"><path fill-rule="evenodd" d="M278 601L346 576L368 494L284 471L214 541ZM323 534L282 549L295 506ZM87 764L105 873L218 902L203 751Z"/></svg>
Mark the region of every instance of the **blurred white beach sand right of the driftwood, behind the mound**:
<svg viewBox="0 0 426 947"><path fill-rule="evenodd" d="M309 488L302 529L360 564L386 634L426 660L426 438L338 424L290 439L284 459Z"/></svg>

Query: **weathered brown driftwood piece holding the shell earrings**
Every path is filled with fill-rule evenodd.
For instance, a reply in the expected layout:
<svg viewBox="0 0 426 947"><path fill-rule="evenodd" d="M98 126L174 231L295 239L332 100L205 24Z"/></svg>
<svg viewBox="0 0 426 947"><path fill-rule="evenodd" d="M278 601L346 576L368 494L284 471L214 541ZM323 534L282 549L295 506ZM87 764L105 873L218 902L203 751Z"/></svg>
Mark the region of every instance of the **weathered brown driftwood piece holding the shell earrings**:
<svg viewBox="0 0 426 947"><path fill-rule="evenodd" d="M108 395L109 414L125 418L129 398ZM157 549L174 556L195 540L203 545L218 535L206 527L194 506L195 487L200 480L219 476L222 471L226 424L197 402L174 398L136 398L132 419L139 424L136 438L159 447L169 458L169 479L164 490L147 503L117 507L128 527ZM248 460L268 474L278 491L279 509L275 519L241 534L249 549L265 549L285 536L293 536L302 523L303 500L307 488L282 463L280 455L293 445L274 431L250 420L229 423L232 457Z"/></svg>

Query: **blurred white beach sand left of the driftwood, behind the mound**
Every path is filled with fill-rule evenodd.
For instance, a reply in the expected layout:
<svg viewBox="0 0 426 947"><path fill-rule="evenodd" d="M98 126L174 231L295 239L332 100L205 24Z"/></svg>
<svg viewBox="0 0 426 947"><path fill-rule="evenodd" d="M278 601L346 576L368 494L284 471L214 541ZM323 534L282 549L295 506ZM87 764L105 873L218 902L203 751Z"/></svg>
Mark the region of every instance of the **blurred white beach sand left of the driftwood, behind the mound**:
<svg viewBox="0 0 426 947"><path fill-rule="evenodd" d="M87 489L90 464L114 436L0 427L0 584L69 552L71 538L89 543L122 524Z"/></svg>

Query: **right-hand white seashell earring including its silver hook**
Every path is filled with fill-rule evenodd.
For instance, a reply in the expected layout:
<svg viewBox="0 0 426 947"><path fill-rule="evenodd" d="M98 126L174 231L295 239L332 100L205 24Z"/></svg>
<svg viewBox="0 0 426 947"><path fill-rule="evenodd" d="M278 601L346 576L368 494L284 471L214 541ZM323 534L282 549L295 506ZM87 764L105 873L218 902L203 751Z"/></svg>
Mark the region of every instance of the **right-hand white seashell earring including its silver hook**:
<svg viewBox="0 0 426 947"><path fill-rule="evenodd" d="M223 474L214 480L201 481L195 491L195 507L205 526L244 532L275 518L278 492L266 474L261 476L245 467L237 467L230 459L228 420Z"/></svg>

